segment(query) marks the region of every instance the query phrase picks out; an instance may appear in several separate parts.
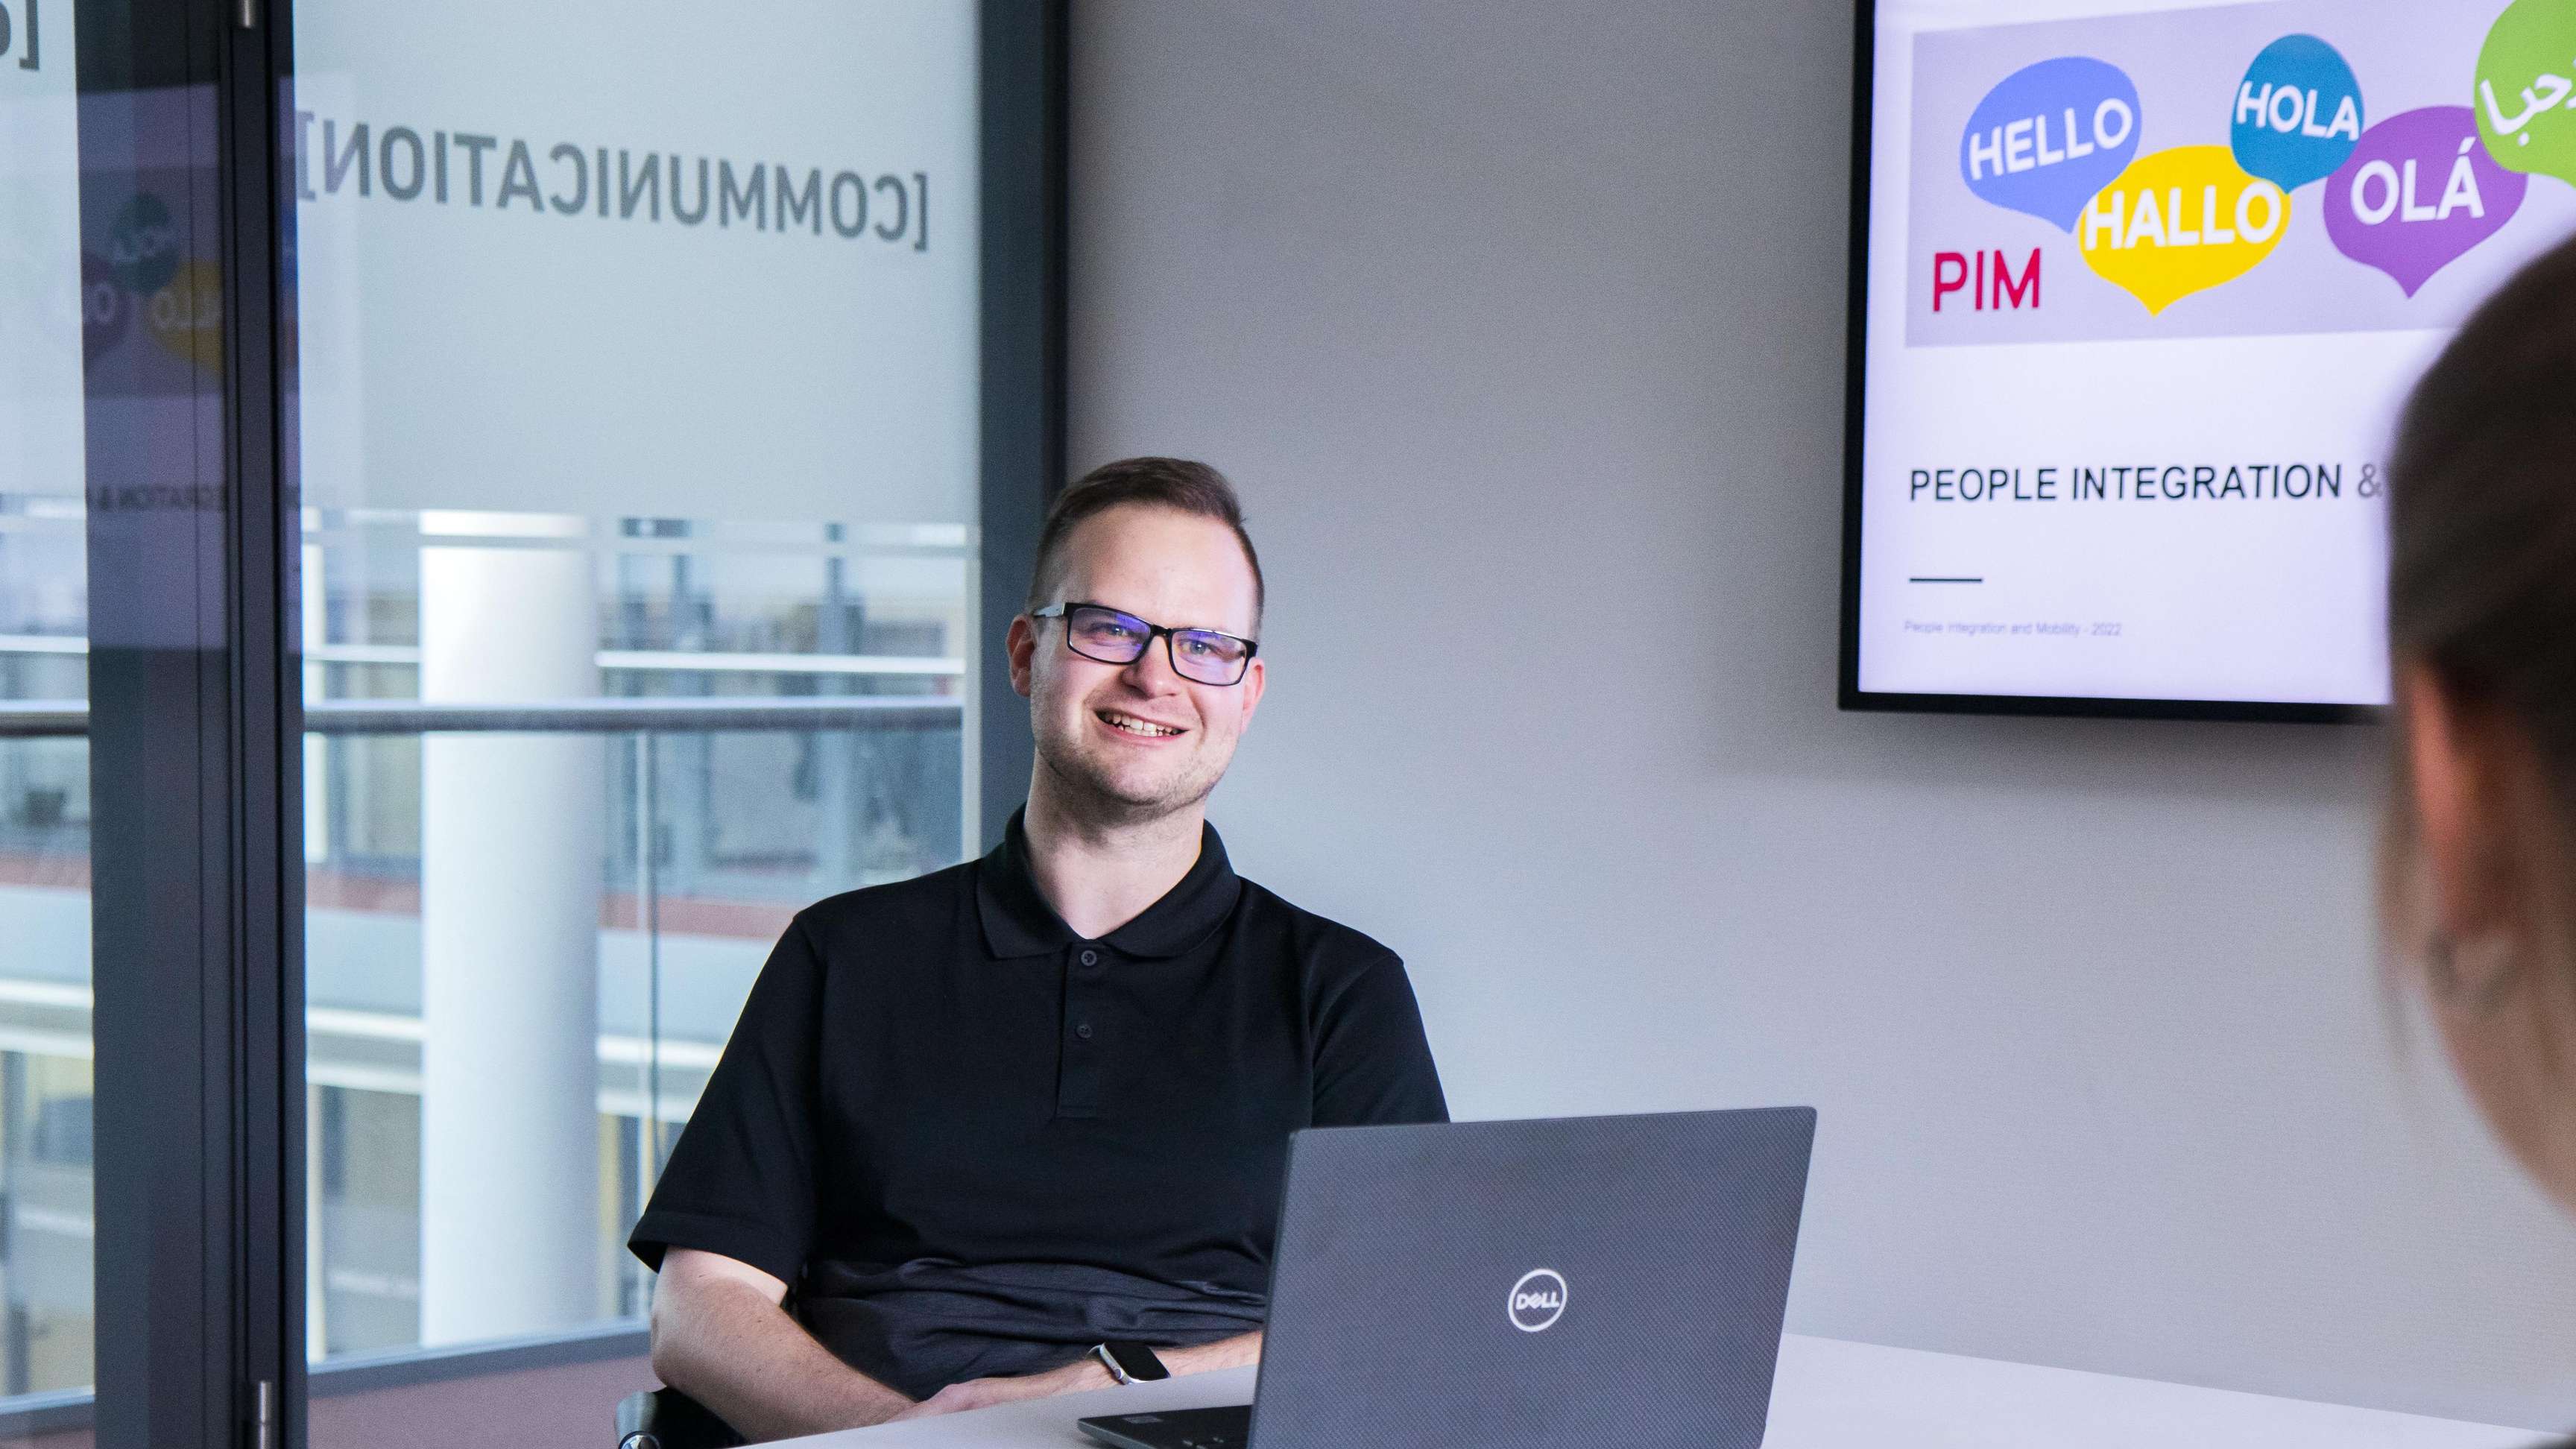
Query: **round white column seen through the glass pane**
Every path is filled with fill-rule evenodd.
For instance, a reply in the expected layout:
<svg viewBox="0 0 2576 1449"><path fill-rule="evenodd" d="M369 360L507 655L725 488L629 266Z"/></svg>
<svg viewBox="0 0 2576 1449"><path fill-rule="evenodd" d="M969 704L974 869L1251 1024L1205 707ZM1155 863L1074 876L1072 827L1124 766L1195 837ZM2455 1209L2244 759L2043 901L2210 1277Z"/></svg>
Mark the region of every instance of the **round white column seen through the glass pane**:
<svg viewBox="0 0 2576 1449"><path fill-rule="evenodd" d="M580 534L577 518L422 516L422 701L598 694ZM595 735L422 745L422 1343L600 1315L603 771Z"/></svg>

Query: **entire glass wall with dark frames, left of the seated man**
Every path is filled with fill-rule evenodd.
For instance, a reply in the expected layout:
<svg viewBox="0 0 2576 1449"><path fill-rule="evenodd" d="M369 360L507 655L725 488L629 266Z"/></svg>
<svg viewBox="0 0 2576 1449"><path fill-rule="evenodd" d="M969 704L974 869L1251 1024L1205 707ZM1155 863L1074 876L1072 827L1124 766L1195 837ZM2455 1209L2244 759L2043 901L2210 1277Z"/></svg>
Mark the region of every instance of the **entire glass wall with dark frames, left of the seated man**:
<svg viewBox="0 0 2576 1449"><path fill-rule="evenodd" d="M1025 771L1059 93L1025 0L0 0L0 1441L605 1431L768 941Z"/></svg>

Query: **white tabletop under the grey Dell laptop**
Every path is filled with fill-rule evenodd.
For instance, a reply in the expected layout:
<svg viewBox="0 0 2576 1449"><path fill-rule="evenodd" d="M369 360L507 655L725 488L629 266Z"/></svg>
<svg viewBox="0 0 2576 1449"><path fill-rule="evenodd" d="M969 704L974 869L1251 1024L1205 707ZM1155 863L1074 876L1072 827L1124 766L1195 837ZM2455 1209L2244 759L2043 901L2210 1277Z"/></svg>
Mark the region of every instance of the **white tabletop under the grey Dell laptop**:
<svg viewBox="0 0 2576 1449"><path fill-rule="evenodd" d="M1074 1449L1077 1418L1252 1403L1252 1369L796 1439L809 1449ZM1765 1449L2519 1449L2527 1428L1788 1336ZM1355 1446L1358 1449L1358 1446Z"/></svg>

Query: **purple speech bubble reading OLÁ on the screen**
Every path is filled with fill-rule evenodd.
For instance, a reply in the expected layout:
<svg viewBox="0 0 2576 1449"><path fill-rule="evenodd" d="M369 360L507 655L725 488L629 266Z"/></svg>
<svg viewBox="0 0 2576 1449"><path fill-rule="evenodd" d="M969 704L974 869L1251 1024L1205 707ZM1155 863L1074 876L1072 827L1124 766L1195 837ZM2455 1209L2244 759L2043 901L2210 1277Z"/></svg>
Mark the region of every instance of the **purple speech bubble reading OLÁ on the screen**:
<svg viewBox="0 0 2576 1449"><path fill-rule="evenodd" d="M2414 297L2432 273L2494 237L2530 178L2504 170L2478 144L2468 106L2424 106L2362 131L2326 178L2326 235L2334 250L2385 271Z"/></svg>

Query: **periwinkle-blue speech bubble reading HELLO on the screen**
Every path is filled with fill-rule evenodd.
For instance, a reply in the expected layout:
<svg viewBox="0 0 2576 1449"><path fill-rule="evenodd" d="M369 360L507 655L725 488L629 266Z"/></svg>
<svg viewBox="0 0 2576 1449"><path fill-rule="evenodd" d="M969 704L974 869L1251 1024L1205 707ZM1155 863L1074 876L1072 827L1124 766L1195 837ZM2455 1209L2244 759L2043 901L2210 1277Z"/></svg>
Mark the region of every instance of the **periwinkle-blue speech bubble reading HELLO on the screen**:
<svg viewBox="0 0 2576 1449"><path fill-rule="evenodd" d="M2081 54L1996 80L1958 137L1968 191L2061 232L2136 155L2138 88L2117 64Z"/></svg>

